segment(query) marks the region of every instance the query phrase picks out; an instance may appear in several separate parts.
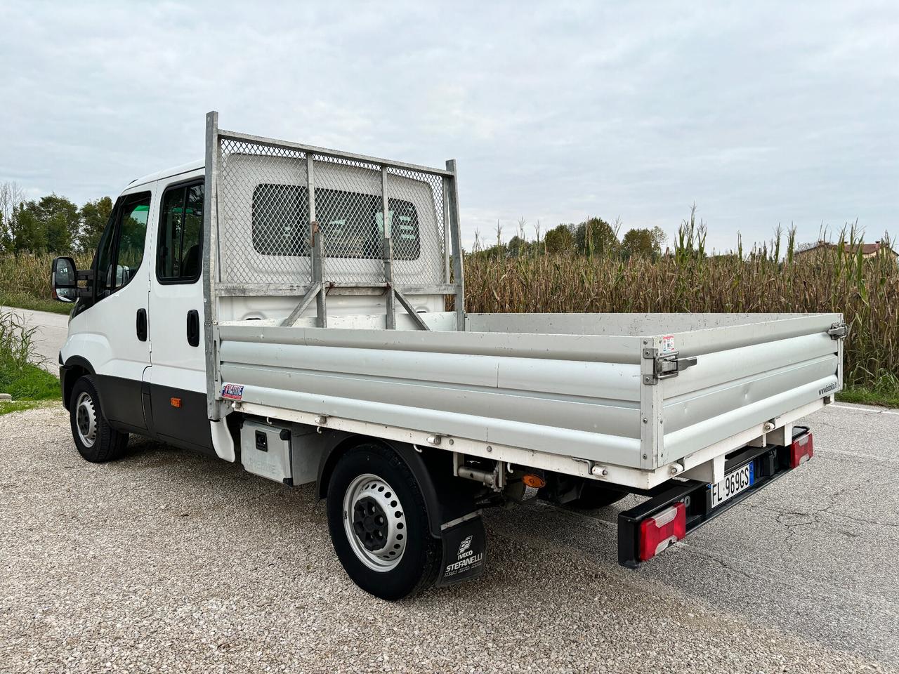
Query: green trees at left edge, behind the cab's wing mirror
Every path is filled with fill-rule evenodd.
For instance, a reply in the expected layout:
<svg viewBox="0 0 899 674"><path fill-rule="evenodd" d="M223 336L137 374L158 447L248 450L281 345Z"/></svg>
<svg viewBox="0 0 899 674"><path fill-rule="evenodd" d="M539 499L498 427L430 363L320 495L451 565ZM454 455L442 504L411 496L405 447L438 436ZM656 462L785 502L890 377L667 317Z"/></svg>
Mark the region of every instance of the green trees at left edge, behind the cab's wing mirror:
<svg viewBox="0 0 899 674"><path fill-rule="evenodd" d="M29 200L15 182L2 182L0 253L89 253L99 243L111 212L109 197L80 207L55 193Z"/></svg>

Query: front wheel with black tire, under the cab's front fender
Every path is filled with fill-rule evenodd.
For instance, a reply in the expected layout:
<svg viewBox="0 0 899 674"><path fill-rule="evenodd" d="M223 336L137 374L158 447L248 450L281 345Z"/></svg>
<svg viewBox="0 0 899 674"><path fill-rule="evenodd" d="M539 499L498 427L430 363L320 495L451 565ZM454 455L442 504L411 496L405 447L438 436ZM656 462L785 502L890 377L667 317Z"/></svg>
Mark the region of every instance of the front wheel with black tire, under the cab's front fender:
<svg viewBox="0 0 899 674"><path fill-rule="evenodd" d="M80 377L76 381L69 407L72 438L78 454L92 464L102 464L122 455L128 444L128 433L120 433L106 421L93 377Z"/></svg>

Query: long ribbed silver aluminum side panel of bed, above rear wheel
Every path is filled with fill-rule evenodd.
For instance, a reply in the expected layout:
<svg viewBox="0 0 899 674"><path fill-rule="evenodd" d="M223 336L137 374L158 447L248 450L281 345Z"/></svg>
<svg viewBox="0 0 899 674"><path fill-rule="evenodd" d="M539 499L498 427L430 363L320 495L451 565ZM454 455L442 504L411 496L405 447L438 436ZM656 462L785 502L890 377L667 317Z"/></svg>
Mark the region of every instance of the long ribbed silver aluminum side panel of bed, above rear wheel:
<svg viewBox="0 0 899 674"><path fill-rule="evenodd" d="M636 466L639 366L223 341L243 400Z"/></svg>

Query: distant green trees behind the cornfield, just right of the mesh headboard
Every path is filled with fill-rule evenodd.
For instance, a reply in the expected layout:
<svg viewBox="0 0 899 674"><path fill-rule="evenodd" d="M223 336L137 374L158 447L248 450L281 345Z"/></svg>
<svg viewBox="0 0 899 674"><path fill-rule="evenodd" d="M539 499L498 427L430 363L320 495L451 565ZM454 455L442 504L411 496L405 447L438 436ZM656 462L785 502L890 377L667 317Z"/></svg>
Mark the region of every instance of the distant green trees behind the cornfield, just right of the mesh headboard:
<svg viewBox="0 0 899 674"><path fill-rule="evenodd" d="M496 243L485 245L480 232L475 232L472 254L486 258L514 258L542 253L577 254L587 257L658 257L668 239L662 227L652 229L634 227L619 238L621 224L612 224L601 217L589 217L579 224L568 223L553 227L541 239L539 222L534 226L535 238L525 235L527 223L522 218L518 231L503 243L503 226L496 224Z"/></svg>

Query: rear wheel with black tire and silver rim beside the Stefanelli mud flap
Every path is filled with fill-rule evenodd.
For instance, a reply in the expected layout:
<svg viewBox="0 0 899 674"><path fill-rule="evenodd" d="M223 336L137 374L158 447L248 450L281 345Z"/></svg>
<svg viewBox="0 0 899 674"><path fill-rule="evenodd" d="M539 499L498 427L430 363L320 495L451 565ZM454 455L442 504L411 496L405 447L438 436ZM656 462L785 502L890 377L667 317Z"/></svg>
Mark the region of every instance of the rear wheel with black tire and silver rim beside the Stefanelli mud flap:
<svg viewBox="0 0 899 674"><path fill-rule="evenodd" d="M396 452L366 443L341 457L327 495L334 552L353 582L396 601L430 588L440 571L418 481Z"/></svg>

